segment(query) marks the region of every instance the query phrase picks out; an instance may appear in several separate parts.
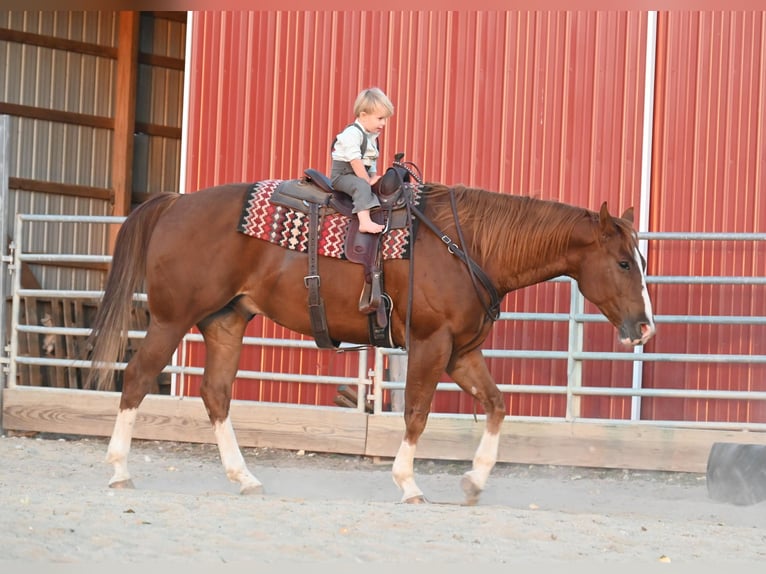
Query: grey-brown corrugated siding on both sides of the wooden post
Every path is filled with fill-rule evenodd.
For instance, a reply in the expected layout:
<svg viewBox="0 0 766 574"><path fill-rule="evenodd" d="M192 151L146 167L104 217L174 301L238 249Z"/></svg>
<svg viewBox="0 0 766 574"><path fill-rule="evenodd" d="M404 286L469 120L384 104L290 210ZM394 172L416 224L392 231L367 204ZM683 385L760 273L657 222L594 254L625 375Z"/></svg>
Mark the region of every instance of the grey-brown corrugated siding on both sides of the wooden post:
<svg viewBox="0 0 766 574"><path fill-rule="evenodd" d="M0 27L114 48L117 12L0 12ZM183 59L186 24L144 14L141 51ZM114 116L115 61L63 49L0 41L0 101L98 117ZM138 122L180 128L183 116L183 70L139 66ZM67 123L11 118L9 173L43 182L111 187L112 131ZM136 189L178 191L180 138L136 135ZM10 190L7 229L16 213L110 215L110 202ZM107 253L107 229L77 224L34 223L27 248L59 253ZM99 289L103 272L32 266L46 288Z"/></svg>

